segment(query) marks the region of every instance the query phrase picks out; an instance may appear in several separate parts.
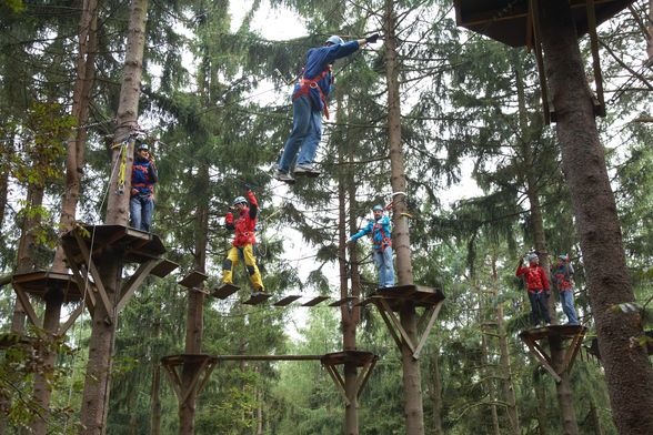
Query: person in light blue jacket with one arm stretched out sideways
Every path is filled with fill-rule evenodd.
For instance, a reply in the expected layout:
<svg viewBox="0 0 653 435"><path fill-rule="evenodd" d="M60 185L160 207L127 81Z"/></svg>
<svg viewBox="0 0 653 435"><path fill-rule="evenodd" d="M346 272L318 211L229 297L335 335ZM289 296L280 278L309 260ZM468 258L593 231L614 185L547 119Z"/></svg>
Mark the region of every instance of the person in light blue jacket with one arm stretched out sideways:
<svg viewBox="0 0 653 435"><path fill-rule="evenodd" d="M394 286L394 266L392 264L392 230L390 218L383 214L383 205L374 205L372 213L374 220L346 240L346 243L355 242L365 234L372 235L372 256L379 271L379 287Z"/></svg>

